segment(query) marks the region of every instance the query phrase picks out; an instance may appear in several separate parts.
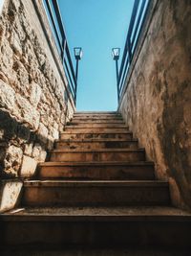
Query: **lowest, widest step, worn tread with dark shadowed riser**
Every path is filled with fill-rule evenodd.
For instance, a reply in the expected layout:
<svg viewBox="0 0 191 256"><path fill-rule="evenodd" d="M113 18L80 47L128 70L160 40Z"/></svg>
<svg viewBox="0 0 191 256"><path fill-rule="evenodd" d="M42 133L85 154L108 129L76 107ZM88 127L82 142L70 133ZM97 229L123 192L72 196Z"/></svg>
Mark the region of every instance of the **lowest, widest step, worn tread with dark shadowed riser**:
<svg viewBox="0 0 191 256"><path fill-rule="evenodd" d="M173 207L35 207L3 214L0 221L5 248L191 248L191 215Z"/></svg>

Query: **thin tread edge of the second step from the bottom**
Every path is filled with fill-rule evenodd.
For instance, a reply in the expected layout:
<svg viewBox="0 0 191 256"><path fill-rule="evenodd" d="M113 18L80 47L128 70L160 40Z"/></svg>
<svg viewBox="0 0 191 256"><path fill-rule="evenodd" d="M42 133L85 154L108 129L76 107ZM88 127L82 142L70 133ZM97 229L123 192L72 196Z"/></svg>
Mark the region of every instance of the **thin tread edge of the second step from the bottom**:
<svg viewBox="0 0 191 256"><path fill-rule="evenodd" d="M84 187L84 186L109 186L109 187L117 187L117 186L128 186L128 187L136 187L136 186L146 186L146 187L168 187L169 184L167 181L161 180L26 180L24 181L24 186L67 186L67 187Z"/></svg>

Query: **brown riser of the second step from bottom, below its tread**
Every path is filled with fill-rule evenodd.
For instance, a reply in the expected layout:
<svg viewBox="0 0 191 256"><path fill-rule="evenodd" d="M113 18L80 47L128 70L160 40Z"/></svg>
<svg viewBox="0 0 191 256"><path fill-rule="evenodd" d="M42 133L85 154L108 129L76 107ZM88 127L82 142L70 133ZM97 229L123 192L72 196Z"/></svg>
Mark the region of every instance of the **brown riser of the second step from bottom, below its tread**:
<svg viewBox="0 0 191 256"><path fill-rule="evenodd" d="M167 186L27 186L24 206L168 205Z"/></svg>

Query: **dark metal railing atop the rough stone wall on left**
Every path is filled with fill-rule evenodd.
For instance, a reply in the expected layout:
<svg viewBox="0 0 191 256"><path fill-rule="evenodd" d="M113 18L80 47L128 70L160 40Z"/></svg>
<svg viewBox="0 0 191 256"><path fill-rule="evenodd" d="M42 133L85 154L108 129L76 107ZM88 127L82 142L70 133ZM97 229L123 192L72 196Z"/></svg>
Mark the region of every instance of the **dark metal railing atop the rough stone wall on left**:
<svg viewBox="0 0 191 256"><path fill-rule="evenodd" d="M71 92L75 105L77 81L74 73L74 65L71 58L61 13L59 11L59 6L57 0L43 0L43 3L47 12L50 26L53 31L55 44L57 46L57 50L60 55L67 77L69 91Z"/></svg>

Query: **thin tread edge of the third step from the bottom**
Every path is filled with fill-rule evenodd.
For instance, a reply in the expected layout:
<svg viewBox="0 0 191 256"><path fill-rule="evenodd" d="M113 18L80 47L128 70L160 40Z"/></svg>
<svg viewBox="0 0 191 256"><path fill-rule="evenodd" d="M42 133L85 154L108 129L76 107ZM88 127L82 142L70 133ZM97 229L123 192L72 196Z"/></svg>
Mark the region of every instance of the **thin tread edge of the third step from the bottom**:
<svg viewBox="0 0 191 256"><path fill-rule="evenodd" d="M56 162L56 161L50 161L50 162L44 162L39 163L39 166L121 166L121 165L128 165L128 166L154 166L153 162L147 162L147 161L139 161L139 162L122 162L122 161L114 161L114 162Z"/></svg>

